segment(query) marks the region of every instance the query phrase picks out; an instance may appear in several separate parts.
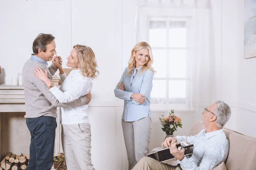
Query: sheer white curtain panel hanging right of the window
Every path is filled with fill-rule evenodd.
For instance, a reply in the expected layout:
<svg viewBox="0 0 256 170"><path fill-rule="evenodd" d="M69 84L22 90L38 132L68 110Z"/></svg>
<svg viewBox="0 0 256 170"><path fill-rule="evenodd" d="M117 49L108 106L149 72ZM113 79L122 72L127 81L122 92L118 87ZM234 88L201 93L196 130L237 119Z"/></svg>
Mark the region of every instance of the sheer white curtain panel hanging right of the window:
<svg viewBox="0 0 256 170"><path fill-rule="evenodd" d="M193 100L194 106L211 105L215 99L215 48L210 0L195 6Z"/></svg>

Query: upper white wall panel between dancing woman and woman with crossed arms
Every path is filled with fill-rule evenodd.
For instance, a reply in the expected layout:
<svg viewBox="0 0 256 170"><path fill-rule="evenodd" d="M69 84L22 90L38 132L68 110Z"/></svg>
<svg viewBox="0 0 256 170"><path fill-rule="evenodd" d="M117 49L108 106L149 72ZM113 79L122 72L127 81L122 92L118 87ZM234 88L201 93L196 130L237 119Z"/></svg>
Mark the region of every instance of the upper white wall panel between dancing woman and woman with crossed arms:
<svg viewBox="0 0 256 170"><path fill-rule="evenodd" d="M72 43L88 45L96 54L99 79L93 82L92 96L97 100L115 100L113 89L122 70L122 39L116 34L122 29L120 7L120 0L100 1L100 5L99 1L72 0Z"/></svg>

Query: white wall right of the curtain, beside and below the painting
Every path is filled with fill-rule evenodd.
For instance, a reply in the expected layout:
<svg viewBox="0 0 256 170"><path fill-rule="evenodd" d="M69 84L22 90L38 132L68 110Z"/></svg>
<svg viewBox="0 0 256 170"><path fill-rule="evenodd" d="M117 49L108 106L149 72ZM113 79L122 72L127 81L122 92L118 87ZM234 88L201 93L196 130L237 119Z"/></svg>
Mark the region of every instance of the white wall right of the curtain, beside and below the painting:
<svg viewBox="0 0 256 170"><path fill-rule="evenodd" d="M256 58L244 59L244 0L222 0L221 99L232 109L226 127L256 137Z"/></svg>

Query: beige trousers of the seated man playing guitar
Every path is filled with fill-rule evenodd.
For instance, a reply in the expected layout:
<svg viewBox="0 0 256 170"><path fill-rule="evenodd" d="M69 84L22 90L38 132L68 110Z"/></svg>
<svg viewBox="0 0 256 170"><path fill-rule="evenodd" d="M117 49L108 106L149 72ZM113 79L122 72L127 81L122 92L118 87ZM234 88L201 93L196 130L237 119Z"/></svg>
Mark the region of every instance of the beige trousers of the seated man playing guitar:
<svg viewBox="0 0 256 170"><path fill-rule="evenodd" d="M143 157L132 170L181 170L181 168L178 165L162 164L153 158Z"/></svg>

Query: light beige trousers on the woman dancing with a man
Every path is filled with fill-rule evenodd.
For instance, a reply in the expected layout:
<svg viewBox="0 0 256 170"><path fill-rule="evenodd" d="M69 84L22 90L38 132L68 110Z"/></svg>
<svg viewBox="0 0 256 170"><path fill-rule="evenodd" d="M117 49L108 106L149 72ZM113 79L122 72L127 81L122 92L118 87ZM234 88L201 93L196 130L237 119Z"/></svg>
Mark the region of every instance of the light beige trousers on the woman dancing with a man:
<svg viewBox="0 0 256 170"><path fill-rule="evenodd" d="M61 141L68 170L95 170L91 162L90 124L61 125Z"/></svg>

